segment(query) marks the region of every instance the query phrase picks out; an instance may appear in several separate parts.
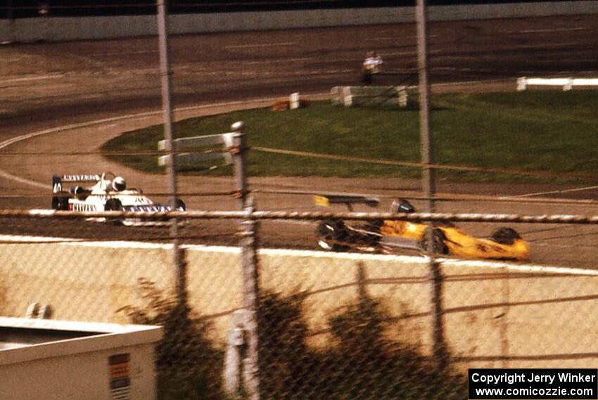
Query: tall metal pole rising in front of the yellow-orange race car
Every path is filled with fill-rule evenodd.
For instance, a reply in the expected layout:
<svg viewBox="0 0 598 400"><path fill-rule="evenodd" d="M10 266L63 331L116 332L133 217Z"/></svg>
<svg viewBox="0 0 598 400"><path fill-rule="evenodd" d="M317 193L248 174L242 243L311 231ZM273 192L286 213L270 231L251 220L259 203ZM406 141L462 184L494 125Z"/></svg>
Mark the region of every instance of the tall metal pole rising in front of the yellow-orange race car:
<svg viewBox="0 0 598 400"><path fill-rule="evenodd" d="M434 212L435 179L433 164L433 144L430 129L430 105L428 102L430 88L428 84L428 32L426 29L426 0L417 0L417 59L419 64L419 131L421 137L422 185L428 199L427 212ZM433 225L428 229L432 232ZM443 369L447 363L447 351L444 340L443 323L443 275L440 264L433 255L433 234L428 235L428 256L430 257L431 308L432 308L432 342L433 355L438 369Z"/></svg>

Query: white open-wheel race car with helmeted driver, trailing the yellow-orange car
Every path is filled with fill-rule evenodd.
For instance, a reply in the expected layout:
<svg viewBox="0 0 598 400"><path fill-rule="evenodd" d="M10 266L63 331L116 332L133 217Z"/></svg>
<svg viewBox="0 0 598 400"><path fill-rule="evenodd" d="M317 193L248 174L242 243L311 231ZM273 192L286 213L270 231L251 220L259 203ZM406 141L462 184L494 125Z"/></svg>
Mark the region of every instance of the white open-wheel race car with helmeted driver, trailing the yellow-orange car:
<svg viewBox="0 0 598 400"><path fill-rule="evenodd" d="M91 183L93 186L72 186L65 191L63 183ZM130 212L168 212L185 211L182 200L177 200L177 207L162 205L150 200L139 189L127 189L122 176L112 172L97 174L75 174L52 177L52 208L78 212L130 211ZM103 221L125 226L167 226L169 219L93 218L91 221Z"/></svg>

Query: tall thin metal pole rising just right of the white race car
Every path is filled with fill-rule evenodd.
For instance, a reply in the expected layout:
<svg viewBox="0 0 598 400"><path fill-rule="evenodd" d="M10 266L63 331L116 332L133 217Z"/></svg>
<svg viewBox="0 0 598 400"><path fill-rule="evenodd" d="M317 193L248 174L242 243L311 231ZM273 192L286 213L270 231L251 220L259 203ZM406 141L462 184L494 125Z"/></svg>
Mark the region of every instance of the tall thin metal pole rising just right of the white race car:
<svg viewBox="0 0 598 400"><path fill-rule="evenodd" d="M170 65L168 63L167 38L167 0L157 0L158 6L158 44L160 46L160 77L162 86L162 107L164 117L164 138L167 142L166 173L169 181L170 203L177 207L177 162L174 155L172 135L172 106L170 101ZM177 219L170 220L170 235L172 236L172 254L174 266L177 269L177 295L179 304L186 304L186 266L184 254L179 249L179 231Z"/></svg>

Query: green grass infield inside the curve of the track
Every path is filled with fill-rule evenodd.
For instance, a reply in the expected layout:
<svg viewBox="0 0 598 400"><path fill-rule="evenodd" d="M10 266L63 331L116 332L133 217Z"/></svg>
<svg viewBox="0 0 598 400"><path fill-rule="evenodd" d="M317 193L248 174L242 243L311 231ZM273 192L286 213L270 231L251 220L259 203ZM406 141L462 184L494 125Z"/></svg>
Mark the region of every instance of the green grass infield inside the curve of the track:
<svg viewBox="0 0 598 400"><path fill-rule="evenodd" d="M598 171L598 91L524 91L519 93L446 94L433 96L431 127L434 159L440 164L587 174ZM419 162L419 110L345 108L314 102L293 111L268 108L193 118L174 124L176 137L220 134L232 122L246 124L248 144L327 155ZM103 151L155 150L161 126L127 132ZM156 156L108 155L117 162L161 173ZM252 150L250 176L402 176L419 177L419 169L366 162L276 155ZM190 174L230 174L229 167ZM454 172L441 178L476 181L547 181L547 178ZM552 179L551 179L552 180ZM565 178L561 177L561 181ZM571 180L571 179L570 179Z"/></svg>

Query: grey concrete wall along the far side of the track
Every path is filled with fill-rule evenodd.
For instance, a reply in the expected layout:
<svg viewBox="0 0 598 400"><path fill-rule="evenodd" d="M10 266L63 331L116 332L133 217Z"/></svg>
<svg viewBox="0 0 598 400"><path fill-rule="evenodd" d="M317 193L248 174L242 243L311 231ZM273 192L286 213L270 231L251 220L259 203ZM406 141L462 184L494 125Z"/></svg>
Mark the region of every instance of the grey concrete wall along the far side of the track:
<svg viewBox="0 0 598 400"><path fill-rule="evenodd" d="M429 19L472 20L598 13L598 1L430 6ZM90 18L0 20L1 41L64 41L157 34L153 15ZM414 22L414 8L345 8L317 11L269 11L170 15L172 34L275 30L306 27Z"/></svg>

